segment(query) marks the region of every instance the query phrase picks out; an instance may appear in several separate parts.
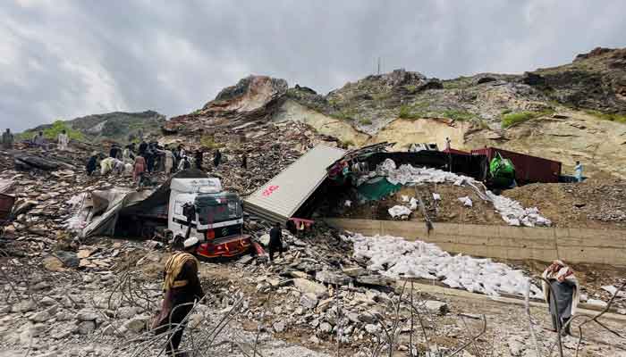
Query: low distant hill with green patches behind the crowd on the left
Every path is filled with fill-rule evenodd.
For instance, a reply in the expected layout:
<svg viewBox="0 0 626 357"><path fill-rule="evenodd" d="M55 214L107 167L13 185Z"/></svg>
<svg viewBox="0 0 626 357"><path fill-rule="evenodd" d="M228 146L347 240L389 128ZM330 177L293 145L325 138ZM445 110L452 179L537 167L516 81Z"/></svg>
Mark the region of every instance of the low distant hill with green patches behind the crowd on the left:
<svg viewBox="0 0 626 357"><path fill-rule="evenodd" d="M115 141L127 143L138 139L140 135L160 135L165 124L165 115L154 111L146 112L107 112L87 115L53 124L40 125L26 130L21 137L32 137L39 130L49 138L55 138L61 129L70 131L71 137L88 141Z"/></svg>

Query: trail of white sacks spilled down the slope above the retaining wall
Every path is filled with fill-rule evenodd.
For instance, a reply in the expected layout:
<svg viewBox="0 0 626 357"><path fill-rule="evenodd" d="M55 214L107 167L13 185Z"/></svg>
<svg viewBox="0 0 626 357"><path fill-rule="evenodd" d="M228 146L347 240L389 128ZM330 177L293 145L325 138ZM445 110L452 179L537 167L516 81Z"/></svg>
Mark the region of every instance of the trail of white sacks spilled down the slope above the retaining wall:
<svg viewBox="0 0 626 357"><path fill-rule="evenodd" d="M536 207L524 208L521 204L503 195L495 195L491 191L484 189L482 183L475 179L453 172L437 170L432 168L415 168L411 165L402 165L397 168L395 162L386 159L378 165L376 175L385 176L392 184L419 185L422 183L451 183L455 186L472 187L477 195L485 201L494 204L495 211L500 213L502 219L512 226L524 225L527 227L550 226L552 221L539 214Z"/></svg>

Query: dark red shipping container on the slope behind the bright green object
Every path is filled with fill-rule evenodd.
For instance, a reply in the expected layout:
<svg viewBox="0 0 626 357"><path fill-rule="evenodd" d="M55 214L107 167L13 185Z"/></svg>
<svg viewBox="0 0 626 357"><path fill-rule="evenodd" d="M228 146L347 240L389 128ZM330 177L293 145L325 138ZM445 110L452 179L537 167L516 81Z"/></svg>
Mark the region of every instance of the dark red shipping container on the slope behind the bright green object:
<svg viewBox="0 0 626 357"><path fill-rule="evenodd" d="M551 183L559 182L561 175L561 162L548 160L528 154L513 153L496 147L485 147L483 149L472 150L472 155L485 155L489 162L500 154L503 158L511 160L515 166L515 180L518 185L525 185L534 182Z"/></svg>

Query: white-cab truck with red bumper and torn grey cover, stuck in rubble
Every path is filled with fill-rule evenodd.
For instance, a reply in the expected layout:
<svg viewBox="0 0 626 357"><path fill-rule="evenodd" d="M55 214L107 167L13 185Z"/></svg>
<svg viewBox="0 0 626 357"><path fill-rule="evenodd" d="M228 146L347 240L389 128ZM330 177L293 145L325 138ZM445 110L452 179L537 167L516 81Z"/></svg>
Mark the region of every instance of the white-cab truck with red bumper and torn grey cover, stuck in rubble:
<svg viewBox="0 0 626 357"><path fill-rule="evenodd" d="M243 235L239 196L224 192L219 179L199 170L179 172L156 190L90 192L78 216L82 237L189 235L199 238L196 253L207 258L239 255L251 245L250 236Z"/></svg>

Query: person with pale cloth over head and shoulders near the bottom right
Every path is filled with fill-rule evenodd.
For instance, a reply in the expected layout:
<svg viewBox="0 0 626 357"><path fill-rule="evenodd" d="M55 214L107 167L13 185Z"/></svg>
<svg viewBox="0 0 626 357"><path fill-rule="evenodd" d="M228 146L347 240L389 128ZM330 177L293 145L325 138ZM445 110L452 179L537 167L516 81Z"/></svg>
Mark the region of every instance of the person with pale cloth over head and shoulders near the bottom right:
<svg viewBox="0 0 626 357"><path fill-rule="evenodd" d="M567 322L576 313L580 300L578 279L574 277L573 270L562 261L552 262L541 277L549 282L548 285L544 281L542 287L552 317L552 331L563 330L564 334L570 335L570 324Z"/></svg>

